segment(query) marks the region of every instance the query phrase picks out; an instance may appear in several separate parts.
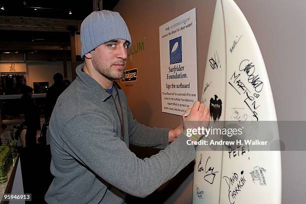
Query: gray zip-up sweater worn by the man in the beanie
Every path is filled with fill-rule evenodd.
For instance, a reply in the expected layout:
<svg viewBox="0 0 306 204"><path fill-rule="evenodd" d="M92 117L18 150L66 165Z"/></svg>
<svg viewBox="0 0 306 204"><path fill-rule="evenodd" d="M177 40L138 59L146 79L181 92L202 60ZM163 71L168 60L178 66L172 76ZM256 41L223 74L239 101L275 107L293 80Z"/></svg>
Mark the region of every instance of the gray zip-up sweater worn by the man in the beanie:
<svg viewBox="0 0 306 204"><path fill-rule="evenodd" d="M114 101L94 79L76 68L77 78L59 96L49 123L50 165L54 179L48 203L123 203L125 192L145 197L195 158L184 134L168 145L168 129L150 128L133 119L121 89L124 137ZM139 159L129 144L164 148Z"/></svg>

